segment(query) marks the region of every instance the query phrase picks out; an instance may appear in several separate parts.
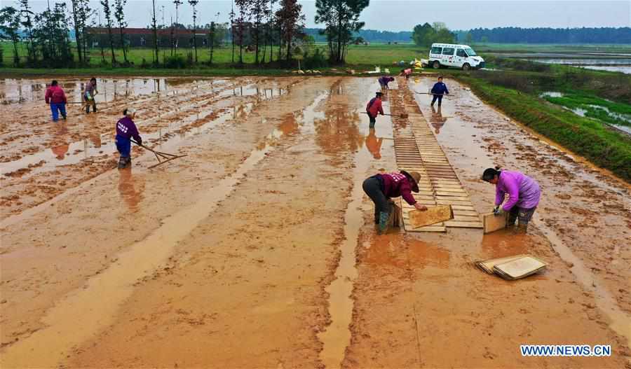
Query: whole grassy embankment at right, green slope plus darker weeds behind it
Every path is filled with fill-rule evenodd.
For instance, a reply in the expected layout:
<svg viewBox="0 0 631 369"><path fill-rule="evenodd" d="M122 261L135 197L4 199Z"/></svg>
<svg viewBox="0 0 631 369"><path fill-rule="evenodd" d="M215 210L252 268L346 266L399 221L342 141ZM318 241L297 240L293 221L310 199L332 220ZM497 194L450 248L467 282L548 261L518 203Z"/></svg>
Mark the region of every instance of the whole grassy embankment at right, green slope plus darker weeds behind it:
<svg viewBox="0 0 631 369"><path fill-rule="evenodd" d="M511 118L631 183L629 136L611 130L599 119L578 116L539 97L545 91L564 92L564 105L603 104L626 113L630 110L631 76L514 60L495 62L504 69L454 77Z"/></svg>

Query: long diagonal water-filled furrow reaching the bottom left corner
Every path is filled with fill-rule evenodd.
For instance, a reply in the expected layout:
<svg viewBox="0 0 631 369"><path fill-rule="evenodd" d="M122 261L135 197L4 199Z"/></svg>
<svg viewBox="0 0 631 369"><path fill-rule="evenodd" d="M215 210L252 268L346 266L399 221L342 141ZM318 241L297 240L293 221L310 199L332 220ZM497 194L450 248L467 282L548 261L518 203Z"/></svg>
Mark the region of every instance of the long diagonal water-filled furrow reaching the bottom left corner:
<svg viewBox="0 0 631 369"><path fill-rule="evenodd" d="M50 368L58 365L69 349L111 324L118 307L133 293L134 282L150 275L168 259L177 242L197 227L230 195L251 169L273 151L283 135L275 130L262 147L255 148L236 172L206 191L193 206L165 218L160 228L121 253L115 264L91 278L86 286L69 294L43 318L46 328L8 347L0 358L5 368ZM34 355L33 352L38 352Z"/></svg>

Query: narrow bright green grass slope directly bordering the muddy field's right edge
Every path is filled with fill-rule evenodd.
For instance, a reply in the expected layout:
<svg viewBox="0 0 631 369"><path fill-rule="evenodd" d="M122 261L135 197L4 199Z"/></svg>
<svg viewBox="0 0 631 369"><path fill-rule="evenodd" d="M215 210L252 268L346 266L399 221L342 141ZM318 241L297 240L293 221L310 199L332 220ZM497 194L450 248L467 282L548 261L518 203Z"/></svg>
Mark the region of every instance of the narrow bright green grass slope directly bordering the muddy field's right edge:
<svg viewBox="0 0 631 369"><path fill-rule="evenodd" d="M456 78L511 118L631 183L629 137L607 129L597 120L548 104L539 97L493 85L475 76L459 74Z"/></svg>

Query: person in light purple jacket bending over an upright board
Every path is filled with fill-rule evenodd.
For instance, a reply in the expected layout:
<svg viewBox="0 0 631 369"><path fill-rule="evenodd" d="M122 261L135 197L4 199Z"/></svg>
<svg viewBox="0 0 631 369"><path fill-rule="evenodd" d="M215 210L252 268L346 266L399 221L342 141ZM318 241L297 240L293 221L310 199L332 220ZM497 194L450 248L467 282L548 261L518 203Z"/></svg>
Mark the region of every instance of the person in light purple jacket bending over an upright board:
<svg viewBox="0 0 631 369"><path fill-rule="evenodd" d="M499 167L486 169L482 174L482 180L495 185L495 209L493 212L496 215L508 213L507 227L515 225L515 221L519 218L517 229L520 232L526 232L528 222L539 204L539 197L541 197L538 183L525 174L499 170ZM507 193L508 200L504 201ZM504 205L500 207L502 203Z"/></svg>

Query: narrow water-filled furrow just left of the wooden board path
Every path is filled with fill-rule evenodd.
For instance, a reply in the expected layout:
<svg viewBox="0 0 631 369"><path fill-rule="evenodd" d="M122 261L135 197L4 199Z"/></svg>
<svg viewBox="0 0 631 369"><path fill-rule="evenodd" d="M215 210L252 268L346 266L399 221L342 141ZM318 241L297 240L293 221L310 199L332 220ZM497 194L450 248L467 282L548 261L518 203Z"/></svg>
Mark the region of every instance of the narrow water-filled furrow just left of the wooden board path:
<svg viewBox="0 0 631 369"><path fill-rule="evenodd" d="M359 113L360 111L358 111ZM361 117L361 126L368 126L368 117ZM372 162L369 151L355 152L355 167L353 169L353 190L349 196L351 202L344 214L344 242L340 244L341 258L334 274L334 281L325 288L329 293L329 314L331 323L326 330L318 333L318 339L323 342L320 360L328 369L340 368L344 359L346 347L351 342L349 326L353 315L353 283L357 278L355 267L355 249L358 245L360 228L364 220L362 216L363 190L360 183L365 179L366 172Z"/></svg>

